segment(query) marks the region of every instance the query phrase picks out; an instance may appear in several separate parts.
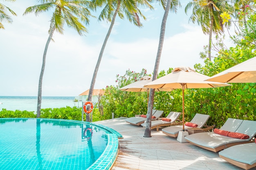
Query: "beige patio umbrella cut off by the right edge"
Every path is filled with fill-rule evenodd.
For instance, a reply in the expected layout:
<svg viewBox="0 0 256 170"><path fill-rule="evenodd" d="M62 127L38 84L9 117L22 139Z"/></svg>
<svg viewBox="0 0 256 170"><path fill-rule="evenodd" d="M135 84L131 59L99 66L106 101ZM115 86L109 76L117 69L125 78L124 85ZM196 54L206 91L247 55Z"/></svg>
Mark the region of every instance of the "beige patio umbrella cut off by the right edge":
<svg viewBox="0 0 256 170"><path fill-rule="evenodd" d="M256 57L220 72L219 74L208 78L207 81L218 81L222 83L255 83Z"/></svg>

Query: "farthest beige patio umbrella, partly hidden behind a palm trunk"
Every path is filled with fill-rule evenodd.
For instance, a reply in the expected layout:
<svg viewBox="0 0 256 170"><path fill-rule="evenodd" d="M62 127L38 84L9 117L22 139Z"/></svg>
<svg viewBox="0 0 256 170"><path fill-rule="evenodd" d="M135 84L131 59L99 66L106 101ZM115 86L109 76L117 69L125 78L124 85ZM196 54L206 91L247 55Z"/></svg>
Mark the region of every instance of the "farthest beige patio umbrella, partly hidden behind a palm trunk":
<svg viewBox="0 0 256 170"><path fill-rule="evenodd" d="M149 89L147 87L144 87L145 84L152 82L152 77L150 76L144 76L139 79L139 81L135 81L134 83L131 83L129 85L126 85L124 87L121 87L119 90L126 91L126 92L148 92ZM171 92L173 89L155 89L157 92Z"/></svg>

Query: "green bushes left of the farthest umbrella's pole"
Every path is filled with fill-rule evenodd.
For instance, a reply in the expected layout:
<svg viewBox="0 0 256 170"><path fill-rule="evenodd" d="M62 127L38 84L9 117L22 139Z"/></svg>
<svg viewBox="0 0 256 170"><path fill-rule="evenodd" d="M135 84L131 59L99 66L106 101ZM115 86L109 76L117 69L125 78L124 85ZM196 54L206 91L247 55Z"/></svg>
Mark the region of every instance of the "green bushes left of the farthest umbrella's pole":
<svg viewBox="0 0 256 170"><path fill-rule="evenodd" d="M127 70L124 76L117 75L116 84L107 86L105 95L101 98L103 105L102 120L112 118L131 117L135 114L146 114L147 92L123 92L119 88L138 81L139 78L148 75L145 69L141 72Z"/></svg>

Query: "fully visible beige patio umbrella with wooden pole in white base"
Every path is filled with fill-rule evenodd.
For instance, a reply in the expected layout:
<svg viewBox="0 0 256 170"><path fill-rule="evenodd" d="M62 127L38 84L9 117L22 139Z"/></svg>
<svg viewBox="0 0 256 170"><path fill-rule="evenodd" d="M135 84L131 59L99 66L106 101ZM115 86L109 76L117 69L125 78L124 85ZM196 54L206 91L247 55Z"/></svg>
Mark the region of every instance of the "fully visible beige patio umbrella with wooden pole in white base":
<svg viewBox="0 0 256 170"><path fill-rule="evenodd" d="M209 76L195 72L189 67L175 68L173 72L146 84L148 88L182 89L182 121L184 131L184 89L212 88L229 86L227 83L204 81Z"/></svg>

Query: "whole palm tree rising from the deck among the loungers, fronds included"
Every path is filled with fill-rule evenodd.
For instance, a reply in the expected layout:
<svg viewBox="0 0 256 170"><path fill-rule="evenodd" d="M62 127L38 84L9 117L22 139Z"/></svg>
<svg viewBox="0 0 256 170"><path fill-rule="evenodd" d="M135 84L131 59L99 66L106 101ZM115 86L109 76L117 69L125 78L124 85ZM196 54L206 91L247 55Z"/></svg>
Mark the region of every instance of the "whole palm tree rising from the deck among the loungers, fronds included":
<svg viewBox="0 0 256 170"><path fill-rule="evenodd" d="M166 2L166 0L160 0L160 2L162 3L162 6L164 7L165 11L164 11L164 17L163 17L162 25L161 25L157 57L155 59L155 68L154 68L154 72L153 72L152 81L157 79L158 68L159 68L162 48L163 48L163 44L164 44L165 26L166 26L166 21L167 21L169 10L171 12L177 13L177 7L181 7L180 0L167 0L167 2ZM151 116L152 116L152 110L153 110L153 104L154 104L154 94L155 94L155 89L150 89L149 99L148 99L146 129L144 132L144 137L151 137Z"/></svg>

